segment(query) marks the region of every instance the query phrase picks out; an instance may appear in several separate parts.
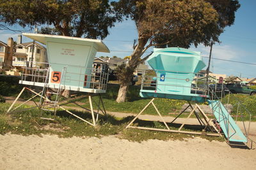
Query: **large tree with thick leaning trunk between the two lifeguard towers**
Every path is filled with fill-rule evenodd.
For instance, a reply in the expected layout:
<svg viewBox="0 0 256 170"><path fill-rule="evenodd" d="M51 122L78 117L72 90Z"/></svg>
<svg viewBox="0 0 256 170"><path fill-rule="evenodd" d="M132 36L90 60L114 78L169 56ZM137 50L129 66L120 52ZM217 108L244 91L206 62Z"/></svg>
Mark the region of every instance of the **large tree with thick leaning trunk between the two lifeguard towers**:
<svg viewBox="0 0 256 170"><path fill-rule="evenodd" d="M209 45L227 25L234 23L237 0L120 0L115 3L118 15L134 20L138 41L134 43L129 66L133 70L148 57L141 56L151 46L189 47L199 43ZM117 102L124 102L131 71L120 80Z"/></svg>

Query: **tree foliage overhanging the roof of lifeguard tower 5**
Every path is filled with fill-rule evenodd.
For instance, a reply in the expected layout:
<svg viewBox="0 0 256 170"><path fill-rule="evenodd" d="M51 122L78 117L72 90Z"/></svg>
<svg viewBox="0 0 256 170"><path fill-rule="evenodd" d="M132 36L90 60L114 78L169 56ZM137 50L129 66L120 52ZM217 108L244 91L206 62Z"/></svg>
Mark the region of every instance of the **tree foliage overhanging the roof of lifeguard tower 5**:
<svg viewBox="0 0 256 170"><path fill-rule="evenodd" d="M116 16L108 0L0 0L0 20L22 27L53 25L42 32L85 38L105 38Z"/></svg>

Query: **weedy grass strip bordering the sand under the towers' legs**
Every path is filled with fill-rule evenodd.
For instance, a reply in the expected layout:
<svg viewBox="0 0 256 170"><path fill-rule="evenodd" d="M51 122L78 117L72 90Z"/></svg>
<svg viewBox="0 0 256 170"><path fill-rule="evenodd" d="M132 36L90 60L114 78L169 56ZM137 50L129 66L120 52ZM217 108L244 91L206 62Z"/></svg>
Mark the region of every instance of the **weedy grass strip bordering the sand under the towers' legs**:
<svg viewBox="0 0 256 170"><path fill-rule="evenodd" d="M154 132L140 129L125 129L127 124L131 122L134 117L115 118L115 117L99 117L99 122L96 127L86 124L83 121L69 115L65 111L57 111L56 117L52 117L49 111L40 111L38 109L27 110L22 112L6 114L6 110L10 104L0 104L0 134L6 134L8 132L12 134L21 134L28 136L35 134L40 136L41 134L56 134L61 138L70 138L72 136L85 137L97 137L116 135L121 139L128 139L130 141L147 141L148 139L159 140L183 140L186 138L192 138L192 135L177 134L172 132ZM30 106L24 106L28 108ZM92 121L90 113L84 113L79 111L72 111L85 120ZM40 118L54 118L54 121L44 120ZM137 120L135 124L144 127L163 128L164 125L161 122L148 122L144 120ZM188 128L188 127L185 127ZM177 127L172 127L177 129ZM188 129L186 129L188 131ZM192 130L189 130L192 131ZM215 137L209 137L209 140L218 139Z"/></svg>

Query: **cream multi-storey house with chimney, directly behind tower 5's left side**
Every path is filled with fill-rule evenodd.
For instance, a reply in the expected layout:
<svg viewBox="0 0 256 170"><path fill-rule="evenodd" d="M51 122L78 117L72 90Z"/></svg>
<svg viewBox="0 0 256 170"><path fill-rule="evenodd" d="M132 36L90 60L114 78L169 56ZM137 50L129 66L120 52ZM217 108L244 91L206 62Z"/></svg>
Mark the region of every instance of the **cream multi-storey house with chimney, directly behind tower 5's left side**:
<svg viewBox="0 0 256 170"><path fill-rule="evenodd" d="M34 46L34 50L33 50ZM44 46L39 43L33 42L22 43L21 38L18 38L18 44L15 46L16 52L13 57L13 66L23 67L25 64L31 66L33 61L33 67L45 67L47 62L47 50ZM25 62L29 61L29 62ZM41 62L40 64L35 64L35 62Z"/></svg>

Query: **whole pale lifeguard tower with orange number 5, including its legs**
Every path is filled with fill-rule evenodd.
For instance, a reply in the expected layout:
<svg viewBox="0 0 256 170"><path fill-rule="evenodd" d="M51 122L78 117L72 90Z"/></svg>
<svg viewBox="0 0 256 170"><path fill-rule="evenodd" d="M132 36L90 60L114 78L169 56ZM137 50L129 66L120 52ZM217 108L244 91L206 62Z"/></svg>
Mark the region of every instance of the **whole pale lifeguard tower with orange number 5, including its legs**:
<svg viewBox="0 0 256 170"><path fill-rule="evenodd" d="M55 114L56 109L60 108L74 117L95 126L99 110L102 111L104 115L106 115L106 111L104 110L104 104L101 97L99 97L99 102L96 103L94 101L97 105L97 113L93 111L92 96L98 94L100 96L101 93L106 92L108 73L107 71L95 70L95 68L93 68L93 60L97 52L109 53L108 47L104 45L102 41L97 39L30 33L23 33L23 35L46 45L49 62L43 64L34 61L33 64L29 61L24 62L23 74L19 83L34 87L42 87L42 91L35 92L28 87L24 87L12 106L10 106L8 112L21 111L17 110L20 106L12 109L13 105L24 90L29 90L29 92L32 92L35 96L32 96L28 101L33 100L36 96L40 97L40 102L32 108L38 107L42 110L54 111ZM60 97L64 97L62 96L64 90L86 92L86 95L75 98L71 97L60 101ZM55 99L52 100L49 96L55 96ZM76 103L76 101L86 97L89 99L90 109L86 109ZM77 104L81 108L84 108L84 110L90 111L92 113L93 121L88 122L63 108L63 105L67 103ZM103 109L100 107L100 104ZM95 114L97 114L97 118L95 118Z"/></svg>

